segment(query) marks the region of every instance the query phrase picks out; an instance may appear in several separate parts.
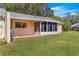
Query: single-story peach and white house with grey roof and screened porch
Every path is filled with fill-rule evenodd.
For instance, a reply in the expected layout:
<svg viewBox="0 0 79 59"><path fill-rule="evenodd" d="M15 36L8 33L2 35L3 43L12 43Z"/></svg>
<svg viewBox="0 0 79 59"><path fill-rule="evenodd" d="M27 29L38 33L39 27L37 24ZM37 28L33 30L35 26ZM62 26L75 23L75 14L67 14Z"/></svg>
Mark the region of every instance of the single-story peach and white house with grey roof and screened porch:
<svg viewBox="0 0 79 59"><path fill-rule="evenodd" d="M15 37L43 36L62 32L62 23L48 17L33 16L0 9L0 38L5 37L9 43L11 31Z"/></svg>

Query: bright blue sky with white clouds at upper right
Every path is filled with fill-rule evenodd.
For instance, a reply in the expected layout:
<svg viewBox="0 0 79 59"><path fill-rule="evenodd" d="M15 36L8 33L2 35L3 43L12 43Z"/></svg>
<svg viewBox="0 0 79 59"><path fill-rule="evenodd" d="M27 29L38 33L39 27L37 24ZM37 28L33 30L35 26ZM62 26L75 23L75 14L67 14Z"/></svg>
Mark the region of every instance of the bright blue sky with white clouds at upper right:
<svg viewBox="0 0 79 59"><path fill-rule="evenodd" d="M79 3L49 3L48 7L54 10L55 16L65 16L66 13L71 15L79 11Z"/></svg>

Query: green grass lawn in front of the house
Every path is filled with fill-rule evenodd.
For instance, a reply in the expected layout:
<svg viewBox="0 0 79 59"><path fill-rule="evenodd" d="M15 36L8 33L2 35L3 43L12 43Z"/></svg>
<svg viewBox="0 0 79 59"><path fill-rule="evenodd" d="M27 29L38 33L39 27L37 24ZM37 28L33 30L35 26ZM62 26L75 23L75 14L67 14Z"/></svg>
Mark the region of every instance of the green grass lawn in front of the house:
<svg viewBox="0 0 79 59"><path fill-rule="evenodd" d="M79 55L79 32L63 32L37 38L15 39L0 46L0 55L72 56Z"/></svg>

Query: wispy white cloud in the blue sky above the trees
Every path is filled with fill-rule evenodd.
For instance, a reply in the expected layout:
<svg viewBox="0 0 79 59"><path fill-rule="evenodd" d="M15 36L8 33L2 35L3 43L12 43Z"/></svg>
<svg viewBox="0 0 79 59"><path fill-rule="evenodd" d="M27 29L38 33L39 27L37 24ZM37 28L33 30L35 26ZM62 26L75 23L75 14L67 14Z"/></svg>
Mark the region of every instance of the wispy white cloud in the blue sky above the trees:
<svg viewBox="0 0 79 59"><path fill-rule="evenodd" d="M74 12L77 10L70 10L65 8L64 6L56 6L51 8L51 10L54 10L54 15L55 16L65 16L66 13L71 13L71 14L75 14Z"/></svg>

